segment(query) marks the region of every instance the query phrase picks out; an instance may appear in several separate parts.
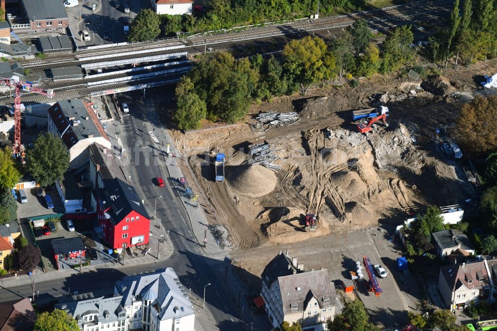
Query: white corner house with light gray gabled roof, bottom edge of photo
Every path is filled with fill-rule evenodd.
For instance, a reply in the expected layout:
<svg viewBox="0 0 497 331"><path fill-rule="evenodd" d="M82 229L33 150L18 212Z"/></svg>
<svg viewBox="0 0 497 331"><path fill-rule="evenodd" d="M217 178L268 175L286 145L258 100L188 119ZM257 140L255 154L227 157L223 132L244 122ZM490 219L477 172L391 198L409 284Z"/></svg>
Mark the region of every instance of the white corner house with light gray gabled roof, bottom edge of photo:
<svg viewBox="0 0 497 331"><path fill-rule="evenodd" d="M125 330L195 330L193 305L172 268L124 277L116 282L114 295L122 297Z"/></svg>

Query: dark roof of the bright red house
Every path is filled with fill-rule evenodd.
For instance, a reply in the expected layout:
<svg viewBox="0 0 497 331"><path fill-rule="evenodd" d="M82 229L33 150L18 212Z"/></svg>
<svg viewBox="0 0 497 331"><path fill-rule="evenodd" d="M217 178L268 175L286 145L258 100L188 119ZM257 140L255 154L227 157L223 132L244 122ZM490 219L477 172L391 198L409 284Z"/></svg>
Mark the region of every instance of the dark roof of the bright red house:
<svg viewBox="0 0 497 331"><path fill-rule="evenodd" d="M119 178L112 179L100 195L105 213L110 216L112 223L119 224L132 210L150 220L135 188Z"/></svg>

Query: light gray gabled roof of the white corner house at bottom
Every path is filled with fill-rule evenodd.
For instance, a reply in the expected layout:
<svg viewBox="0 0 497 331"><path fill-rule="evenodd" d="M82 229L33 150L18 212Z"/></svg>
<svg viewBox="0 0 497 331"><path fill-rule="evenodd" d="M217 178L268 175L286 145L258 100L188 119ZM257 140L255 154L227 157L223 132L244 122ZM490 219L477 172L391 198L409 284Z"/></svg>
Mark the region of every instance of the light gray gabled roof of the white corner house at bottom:
<svg viewBox="0 0 497 331"><path fill-rule="evenodd" d="M152 307L159 312L161 321L195 314L193 305L182 287L172 268L147 275L124 277L116 282L116 289L122 295L123 307L144 297L155 297Z"/></svg>

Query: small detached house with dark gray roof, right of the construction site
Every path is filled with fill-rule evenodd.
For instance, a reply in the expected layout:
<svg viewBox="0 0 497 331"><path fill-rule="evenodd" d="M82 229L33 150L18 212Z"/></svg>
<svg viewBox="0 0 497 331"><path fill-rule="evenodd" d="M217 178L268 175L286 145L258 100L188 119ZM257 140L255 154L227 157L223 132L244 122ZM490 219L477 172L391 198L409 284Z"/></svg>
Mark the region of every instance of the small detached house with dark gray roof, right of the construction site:
<svg viewBox="0 0 497 331"><path fill-rule="evenodd" d="M457 249L462 249L469 254L475 253L468 237L459 230L442 230L431 234L435 243L435 249L440 259L444 259Z"/></svg>

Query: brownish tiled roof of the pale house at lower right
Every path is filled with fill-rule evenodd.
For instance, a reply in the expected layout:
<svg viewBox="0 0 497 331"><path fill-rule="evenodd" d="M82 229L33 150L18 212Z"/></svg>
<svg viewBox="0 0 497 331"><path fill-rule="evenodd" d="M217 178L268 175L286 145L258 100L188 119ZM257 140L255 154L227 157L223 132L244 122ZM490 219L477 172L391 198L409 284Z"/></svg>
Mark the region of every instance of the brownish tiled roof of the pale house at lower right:
<svg viewBox="0 0 497 331"><path fill-rule="evenodd" d="M484 261L444 265L440 267L440 271L451 291L457 290L462 285L469 289L490 286Z"/></svg>

